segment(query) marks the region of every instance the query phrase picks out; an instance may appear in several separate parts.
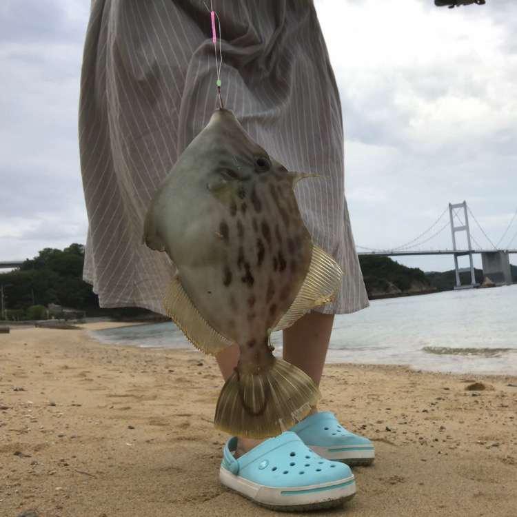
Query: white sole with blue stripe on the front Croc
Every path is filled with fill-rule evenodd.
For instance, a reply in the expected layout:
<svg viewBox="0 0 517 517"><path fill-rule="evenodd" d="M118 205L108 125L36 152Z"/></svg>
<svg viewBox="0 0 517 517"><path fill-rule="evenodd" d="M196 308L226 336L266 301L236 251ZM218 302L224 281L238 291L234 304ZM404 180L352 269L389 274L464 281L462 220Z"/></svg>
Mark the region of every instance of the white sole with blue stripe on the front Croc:
<svg viewBox="0 0 517 517"><path fill-rule="evenodd" d="M276 510L296 511L327 508L342 505L356 493L354 476L304 487L266 487L250 480L235 476L221 466L219 480L225 487L258 505Z"/></svg>

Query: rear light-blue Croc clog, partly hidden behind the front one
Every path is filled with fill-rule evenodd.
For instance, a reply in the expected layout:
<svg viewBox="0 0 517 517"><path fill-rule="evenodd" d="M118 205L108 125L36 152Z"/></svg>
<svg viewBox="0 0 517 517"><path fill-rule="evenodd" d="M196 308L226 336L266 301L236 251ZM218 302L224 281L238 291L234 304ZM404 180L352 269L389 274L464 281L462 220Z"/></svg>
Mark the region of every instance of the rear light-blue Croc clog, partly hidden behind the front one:
<svg viewBox="0 0 517 517"><path fill-rule="evenodd" d="M342 461L347 465L370 465L375 458L374 444L343 429L336 417L324 411L307 416L291 427L303 443L327 460Z"/></svg>

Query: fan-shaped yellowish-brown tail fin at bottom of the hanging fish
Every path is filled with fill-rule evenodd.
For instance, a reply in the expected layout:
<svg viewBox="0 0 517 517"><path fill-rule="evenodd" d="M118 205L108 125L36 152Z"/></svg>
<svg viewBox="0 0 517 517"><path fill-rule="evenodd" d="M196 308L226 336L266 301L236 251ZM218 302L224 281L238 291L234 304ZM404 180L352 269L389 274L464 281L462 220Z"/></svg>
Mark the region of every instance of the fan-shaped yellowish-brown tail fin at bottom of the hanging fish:
<svg viewBox="0 0 517 517"><path fill-rule="evenodd" d="M287 361L256 374L230 374L217 401L214 424L232 436L269 438L309 414L321 393L311 378Z"/></svg>

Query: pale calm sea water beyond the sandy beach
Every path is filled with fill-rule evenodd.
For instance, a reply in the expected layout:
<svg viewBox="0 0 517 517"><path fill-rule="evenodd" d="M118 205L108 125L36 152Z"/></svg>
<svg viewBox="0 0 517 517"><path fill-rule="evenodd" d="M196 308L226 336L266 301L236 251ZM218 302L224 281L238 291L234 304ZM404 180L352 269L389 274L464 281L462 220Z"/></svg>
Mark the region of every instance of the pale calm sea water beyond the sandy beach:
<svg viewBox="0 0 517 517"><path fill-rule="evenodd" d="M194 347L174 323L90 332L103 343ZM272 335L281 352L281 332ZM517 285L372 301L334 321L327 363L517 375Z"/></svg>

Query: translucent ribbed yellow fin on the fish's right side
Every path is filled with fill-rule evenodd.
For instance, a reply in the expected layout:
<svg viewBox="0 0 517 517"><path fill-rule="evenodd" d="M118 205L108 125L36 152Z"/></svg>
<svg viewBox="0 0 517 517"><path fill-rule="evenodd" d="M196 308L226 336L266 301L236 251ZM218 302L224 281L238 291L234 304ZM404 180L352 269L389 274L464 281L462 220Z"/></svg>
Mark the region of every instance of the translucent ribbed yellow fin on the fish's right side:
<svg viewBox="0 0 517 517"><path fill-rule="evenodd" d="M342 278L343 270L332 256L325 253L321 247L313 245L307 276L291 307L273 330L286 329L313 307L330 302L341 285Z"/></svg>

